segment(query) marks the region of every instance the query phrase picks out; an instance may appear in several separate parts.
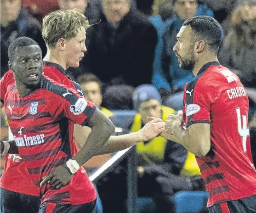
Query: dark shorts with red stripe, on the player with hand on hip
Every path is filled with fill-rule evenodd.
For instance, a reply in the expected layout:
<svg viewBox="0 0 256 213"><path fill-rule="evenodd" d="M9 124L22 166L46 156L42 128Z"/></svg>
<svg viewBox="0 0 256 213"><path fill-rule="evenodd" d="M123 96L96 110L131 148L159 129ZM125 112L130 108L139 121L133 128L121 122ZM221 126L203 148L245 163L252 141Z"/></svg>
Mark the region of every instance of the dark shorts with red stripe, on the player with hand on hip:
<svg viewBox="0 0 256 213"><path fill-rule="evenodd" d="M92 213L96 200L81 205L44 203L40 205L39 213Z"/></svg>

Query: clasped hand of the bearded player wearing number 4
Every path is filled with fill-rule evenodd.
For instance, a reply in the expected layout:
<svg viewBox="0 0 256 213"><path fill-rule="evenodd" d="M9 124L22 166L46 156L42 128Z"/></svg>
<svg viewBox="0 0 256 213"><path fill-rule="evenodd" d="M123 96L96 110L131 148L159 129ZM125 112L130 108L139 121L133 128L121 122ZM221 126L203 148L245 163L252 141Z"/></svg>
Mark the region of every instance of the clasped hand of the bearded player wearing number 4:
<svg viewBox="0 0 256 213"><path fill-rule="evenodd" d="M173 135L174 129L182 128L183 115L182 111L179 111L177 115L170 114L168 115L165 121L166 134Z"/></svg>

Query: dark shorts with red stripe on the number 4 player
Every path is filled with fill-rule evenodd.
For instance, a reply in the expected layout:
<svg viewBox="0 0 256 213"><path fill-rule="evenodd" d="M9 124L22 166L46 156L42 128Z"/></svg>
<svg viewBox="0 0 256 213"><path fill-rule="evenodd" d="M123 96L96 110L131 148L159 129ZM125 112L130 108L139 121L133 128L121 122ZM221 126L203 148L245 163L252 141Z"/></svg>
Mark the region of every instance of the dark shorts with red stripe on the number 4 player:
<svg viewBox="0 0 256 213"><path fill-rule="evenodd" d="M256 195L209 207L209 213L256 213Z"/></svg>

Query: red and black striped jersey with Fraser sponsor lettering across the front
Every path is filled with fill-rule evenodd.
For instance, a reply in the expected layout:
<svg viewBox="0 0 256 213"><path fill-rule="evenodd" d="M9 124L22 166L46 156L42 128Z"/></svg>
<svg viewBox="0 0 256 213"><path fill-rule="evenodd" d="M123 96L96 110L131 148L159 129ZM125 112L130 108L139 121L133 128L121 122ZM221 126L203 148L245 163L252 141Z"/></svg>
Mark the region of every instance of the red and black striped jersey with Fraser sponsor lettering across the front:
<svg viewBox="0 0 256 213"><path fill-rule="evenodd" d="M23 98L17 88L7 91L5 110L11 132L19 153L34 184L40 186L42 178L52 169L63 165L76 153L74 139L69 137L69 123L86 125L96 106L85 100L72 87L43 78L40 89ZM86 187L91 184L91 187ZM88 197L92 183L85 169L74 174L69 184L60 190L50 190L50 185L40 187L41 201L78 205L91 202Z"/></svg>

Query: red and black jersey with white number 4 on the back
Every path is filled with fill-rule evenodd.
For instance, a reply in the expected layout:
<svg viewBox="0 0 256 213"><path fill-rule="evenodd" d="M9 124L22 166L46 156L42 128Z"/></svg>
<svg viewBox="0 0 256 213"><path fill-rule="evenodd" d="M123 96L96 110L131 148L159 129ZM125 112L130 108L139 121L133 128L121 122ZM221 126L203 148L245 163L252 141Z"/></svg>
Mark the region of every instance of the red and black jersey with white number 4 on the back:
<svg viewBox="0 0 256 213"><path fill-rule="evenodd" d="M210 151L205 157L197 157L210 194L208 206L255 195L249 101L239 78L219 62L207 63L185 85L183 103L187 127L210 123Z"/></svg>

